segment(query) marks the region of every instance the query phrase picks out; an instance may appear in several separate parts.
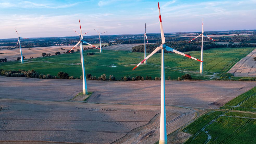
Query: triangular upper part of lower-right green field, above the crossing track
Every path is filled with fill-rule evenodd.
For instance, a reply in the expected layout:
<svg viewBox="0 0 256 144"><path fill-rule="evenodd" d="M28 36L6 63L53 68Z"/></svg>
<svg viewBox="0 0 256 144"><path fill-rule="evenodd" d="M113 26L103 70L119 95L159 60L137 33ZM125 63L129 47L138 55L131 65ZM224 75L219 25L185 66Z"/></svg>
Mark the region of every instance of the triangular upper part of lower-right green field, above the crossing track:
<svg viewBox="0 0 256 144"><path fill-rule="evenodd" d="M256 112L256 87L232 99L221 109Z"/></svg>

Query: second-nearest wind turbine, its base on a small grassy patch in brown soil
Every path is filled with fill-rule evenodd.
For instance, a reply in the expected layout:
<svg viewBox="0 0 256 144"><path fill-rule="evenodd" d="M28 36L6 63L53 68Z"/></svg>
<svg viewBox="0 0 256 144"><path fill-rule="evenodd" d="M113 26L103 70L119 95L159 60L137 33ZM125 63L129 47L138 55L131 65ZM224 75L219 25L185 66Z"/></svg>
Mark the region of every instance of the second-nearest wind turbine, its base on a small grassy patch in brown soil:
<svg viewBox="0 0 256 144"><path fill-rule="evenodd" d="M80 33L81 33L81 39L79 40L79 42L72 48L74 49L79 43L81 43L80 48L81 48L81 55L82 55L82 71L83 71L83 93L84 94L88 94L88 90L87 90L87 85L86 85L86 77L85 77L85 68L84 68L84 57L83 57L83 47L82 47L82 43L86 43L87 45L93 46L90 43L86 42L83 40L83 34L82 34L82 29L81 29L81 24L80 24L80 19L79 19L79 25L80 25ZM80 35L79 35L80 36ZM95 48L98 48L96 46L93 46ZM71 50L72 50L71 49ZM99 48L98 48L99 49ZM71 51L70 50L70 51ZM70 52L69 51L69 52Z"/></svg>

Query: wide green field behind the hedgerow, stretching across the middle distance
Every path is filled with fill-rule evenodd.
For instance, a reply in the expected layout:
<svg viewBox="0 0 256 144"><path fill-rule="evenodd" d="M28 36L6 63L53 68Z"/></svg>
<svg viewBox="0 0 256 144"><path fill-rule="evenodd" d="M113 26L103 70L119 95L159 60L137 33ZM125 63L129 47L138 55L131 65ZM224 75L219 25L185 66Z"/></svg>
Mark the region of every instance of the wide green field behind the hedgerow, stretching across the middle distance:
<svg viewBox="0 0 256 144"><path fill-rule="evenodd" d="M240 59L245 57L254 48L214 48L204 51L204 74L199 74L200 62L185 58L178 54L165 54L165 79L177 79L188 73L193 79L216 79L226 73ZM95 55L86 55L87 52L95 52ZM191 51L191 56L200 58L200 51ZM147 54L148 55L148 54ZM105 73L113 74L116 79L123 76L161 76L161 54L154 54L147 60L148 64L141 65L134 71L132 68L143 60L143 53L131 53L125 51L98 50L84 51L85 71L93 76ZM51 57L25 59L25 63L11 61L0 63L0 69L6 70L35 70L42 74L57 75L59 71L67 72L70 76L80 78L82 65L80 53L60 54ZM224 77L225 78L225 77ZM231 78L232 79L232 78Z"/></svg>

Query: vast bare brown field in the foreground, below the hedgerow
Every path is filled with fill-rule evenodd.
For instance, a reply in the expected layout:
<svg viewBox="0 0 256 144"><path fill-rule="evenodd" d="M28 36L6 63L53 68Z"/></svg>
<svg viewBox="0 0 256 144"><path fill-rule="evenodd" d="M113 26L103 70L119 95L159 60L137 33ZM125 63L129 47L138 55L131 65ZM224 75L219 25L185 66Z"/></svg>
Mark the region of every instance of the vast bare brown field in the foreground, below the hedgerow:
<svg viewBox="0 0 256 144"><path fill-rule="evenodd" d="M155 143L160 81L88 80L90 102L67 101L82 80L0 76L0 143ZM167 133L217 108L255 82L166 80ZM49 142L50 141L50 142Z"/></svg>

